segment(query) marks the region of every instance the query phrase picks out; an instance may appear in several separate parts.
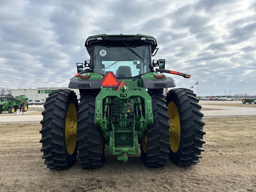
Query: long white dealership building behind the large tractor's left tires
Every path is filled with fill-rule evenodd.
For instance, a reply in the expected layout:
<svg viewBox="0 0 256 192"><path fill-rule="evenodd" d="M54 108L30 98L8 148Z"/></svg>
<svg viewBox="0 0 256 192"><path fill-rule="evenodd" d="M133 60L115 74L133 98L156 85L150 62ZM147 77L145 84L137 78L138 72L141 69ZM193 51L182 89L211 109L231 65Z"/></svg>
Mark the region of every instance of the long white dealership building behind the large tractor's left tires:
<svg viewBox="0 0 256 192"><path fill-rule="evenodd" d="M71 88L28 88L28 89L12 89L12 96L20 96L24 95L28 97L29 100L45 100L49 93L55 91L57 89L69 89L76 92L77 99L80 98L79 89L71 89Z"/></svg>

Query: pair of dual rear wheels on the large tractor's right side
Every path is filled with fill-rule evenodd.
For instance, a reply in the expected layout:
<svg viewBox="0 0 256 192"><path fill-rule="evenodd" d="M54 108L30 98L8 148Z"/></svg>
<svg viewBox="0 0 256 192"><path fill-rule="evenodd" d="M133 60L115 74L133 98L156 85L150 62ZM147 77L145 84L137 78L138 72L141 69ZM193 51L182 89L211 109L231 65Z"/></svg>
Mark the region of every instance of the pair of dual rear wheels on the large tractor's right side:
<svg viewBox="0 0 256 192"><path fill-rule="evenodd" d="M152 97L154 124L148 126L140 142L144 164L163 167L168 157L178 166L199 163L205 124L196 94L184 88L170 90L166 98L160 90L148 93Z"/></svg>

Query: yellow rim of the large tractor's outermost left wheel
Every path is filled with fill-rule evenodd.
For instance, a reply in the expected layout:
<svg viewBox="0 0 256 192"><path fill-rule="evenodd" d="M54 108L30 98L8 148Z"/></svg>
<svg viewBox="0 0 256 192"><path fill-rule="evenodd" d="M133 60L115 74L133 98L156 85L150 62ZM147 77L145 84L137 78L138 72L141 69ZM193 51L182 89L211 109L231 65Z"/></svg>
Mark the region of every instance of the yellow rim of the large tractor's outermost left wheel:
<svg viewBox="0 0 256 192"><path fill-rule="evenodd" d="M75 104L71 103L68 106L66 124L65 124L65 139L66 139L66 148L69 155L72 155L76 148L76 139L77 139L77 112Z"/></svg>

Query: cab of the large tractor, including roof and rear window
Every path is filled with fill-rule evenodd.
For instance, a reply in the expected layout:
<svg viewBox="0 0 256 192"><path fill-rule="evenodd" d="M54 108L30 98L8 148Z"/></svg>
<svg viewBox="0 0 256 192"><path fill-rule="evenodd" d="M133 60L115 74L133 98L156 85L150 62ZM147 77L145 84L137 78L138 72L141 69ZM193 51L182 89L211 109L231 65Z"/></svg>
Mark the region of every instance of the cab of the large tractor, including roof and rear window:
<svg viewBox="0 0 256 192"><path fill-rule="evenodd" d="M84 64L84 67L90 68L88 72L103 76L106 72L113 72L122 79L152 72L154 64L151 57L158 50L153 36L141 34L89 36L85 47L91 57Z"/></svg>

